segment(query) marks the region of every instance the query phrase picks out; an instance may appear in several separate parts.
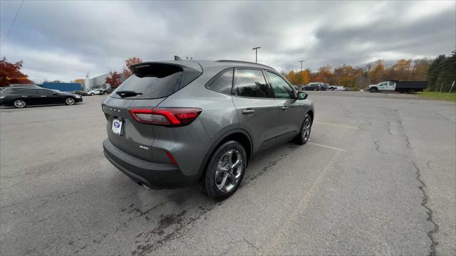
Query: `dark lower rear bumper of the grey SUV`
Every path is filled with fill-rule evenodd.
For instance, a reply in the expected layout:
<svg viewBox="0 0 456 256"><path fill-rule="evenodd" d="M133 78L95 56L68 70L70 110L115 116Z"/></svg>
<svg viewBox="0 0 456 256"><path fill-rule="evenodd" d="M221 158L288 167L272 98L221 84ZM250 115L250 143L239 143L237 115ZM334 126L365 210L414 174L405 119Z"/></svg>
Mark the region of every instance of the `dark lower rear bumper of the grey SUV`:
<svg viewBox="0 0 456 256"><path fill-rule="evenodd" d="M154 163L132 156L114 146L109 139L103 141L106 158L136 183L150 188L180 188L196 183L199 176L185 176L172 164Z"/></svg>

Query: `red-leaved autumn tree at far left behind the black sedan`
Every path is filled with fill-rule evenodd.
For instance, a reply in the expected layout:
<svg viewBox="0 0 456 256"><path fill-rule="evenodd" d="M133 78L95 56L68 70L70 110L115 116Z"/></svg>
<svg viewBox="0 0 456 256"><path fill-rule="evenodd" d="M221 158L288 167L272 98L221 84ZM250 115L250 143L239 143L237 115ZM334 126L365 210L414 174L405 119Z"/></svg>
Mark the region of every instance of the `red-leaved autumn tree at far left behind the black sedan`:
<svg viewBox="0 0 456 256"><path fill-rule="evenodd" d="M9 63L6 58L0 60L0 87L11 84L32 84L28 75L21 73L22 60L16 63Z"/></svg>

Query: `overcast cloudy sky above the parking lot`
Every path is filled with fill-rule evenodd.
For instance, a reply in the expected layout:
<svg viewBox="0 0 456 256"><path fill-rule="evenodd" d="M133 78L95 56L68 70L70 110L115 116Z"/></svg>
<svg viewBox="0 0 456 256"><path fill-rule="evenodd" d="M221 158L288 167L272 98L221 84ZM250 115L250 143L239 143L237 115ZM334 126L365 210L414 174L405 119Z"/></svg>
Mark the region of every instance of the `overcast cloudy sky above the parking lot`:
<svg viewBox="0 0 456 256"><path fill-rule="evenodd" d="M255 61L254 46L279 71L456 48L456 1L24 1L11 28L20 5L0 1L0 55L32 80L93 77L131 56Z"/></svg>

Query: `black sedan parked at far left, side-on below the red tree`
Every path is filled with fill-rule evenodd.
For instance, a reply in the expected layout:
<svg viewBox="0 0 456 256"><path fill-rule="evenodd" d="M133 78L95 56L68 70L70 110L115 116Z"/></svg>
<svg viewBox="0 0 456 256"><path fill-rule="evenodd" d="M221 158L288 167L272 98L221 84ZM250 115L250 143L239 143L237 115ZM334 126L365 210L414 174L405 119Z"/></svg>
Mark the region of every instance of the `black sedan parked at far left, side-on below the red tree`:
<svg viewBox="0 0 456 256"><path fill-rule="evenodd" d="M82 101L83 97L80 95L53 92L52 90L41 88L28 88L0 96L0 105L18 108L26 107L27 105L74 105L76 102Z"/></svg>

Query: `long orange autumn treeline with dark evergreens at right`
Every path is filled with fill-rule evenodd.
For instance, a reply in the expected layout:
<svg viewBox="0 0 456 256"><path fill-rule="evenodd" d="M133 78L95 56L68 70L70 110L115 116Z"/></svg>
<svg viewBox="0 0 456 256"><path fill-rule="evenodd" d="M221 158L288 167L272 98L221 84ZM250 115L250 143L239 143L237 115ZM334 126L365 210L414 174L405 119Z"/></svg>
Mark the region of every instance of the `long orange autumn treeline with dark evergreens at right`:
<svg viewBox="0 0 456 256"><path fill-rule="evenodd" d="M392 65L387 65L383 60L368 63L363 67L354 68L351 65L342 65L332 68L329 65L311 72L306 69L301 72L294 70L282 75L293 85L306 85L309 82L327 82L330 85L343 85L355 90L365 89L368 85L387 80L416 80L429 81L429 89L443 83L443 90L450 90L452 81L456 78L456 51L450 57L440 55L438 58L398 60Z"/></svg>

